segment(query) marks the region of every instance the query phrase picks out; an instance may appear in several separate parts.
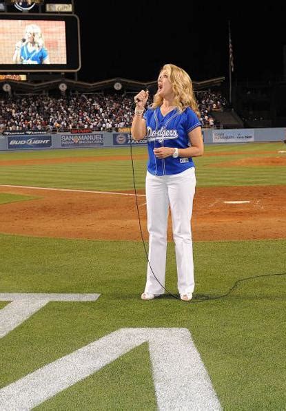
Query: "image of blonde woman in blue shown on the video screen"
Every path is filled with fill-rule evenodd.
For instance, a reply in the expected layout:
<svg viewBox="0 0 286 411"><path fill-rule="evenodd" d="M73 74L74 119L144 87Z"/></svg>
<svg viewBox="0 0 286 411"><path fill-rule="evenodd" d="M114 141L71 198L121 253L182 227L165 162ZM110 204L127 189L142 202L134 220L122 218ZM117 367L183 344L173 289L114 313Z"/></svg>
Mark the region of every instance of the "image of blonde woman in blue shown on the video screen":
<svg viewBox="0 0 286 411"><path fill-rule="evenodd" d="M41 28L37 24L29 24L25 28L25 37L16 43L13 55L16 64L50 64L48 50Z"/></svg>

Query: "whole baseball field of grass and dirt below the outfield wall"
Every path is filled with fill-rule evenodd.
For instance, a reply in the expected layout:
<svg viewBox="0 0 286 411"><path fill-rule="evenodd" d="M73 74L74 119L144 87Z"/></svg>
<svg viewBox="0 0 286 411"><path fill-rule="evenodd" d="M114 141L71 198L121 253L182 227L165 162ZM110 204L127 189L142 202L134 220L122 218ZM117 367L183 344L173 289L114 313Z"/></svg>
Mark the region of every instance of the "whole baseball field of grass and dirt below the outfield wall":
<svg viewBox="0 0 286 411"><path fill-rule="evenodd" d="M171 228L167 292L140 299L132 154L134 178L125 147L0 152L0 410L285 410L285 144L194 159L189 303Z"/></svg>

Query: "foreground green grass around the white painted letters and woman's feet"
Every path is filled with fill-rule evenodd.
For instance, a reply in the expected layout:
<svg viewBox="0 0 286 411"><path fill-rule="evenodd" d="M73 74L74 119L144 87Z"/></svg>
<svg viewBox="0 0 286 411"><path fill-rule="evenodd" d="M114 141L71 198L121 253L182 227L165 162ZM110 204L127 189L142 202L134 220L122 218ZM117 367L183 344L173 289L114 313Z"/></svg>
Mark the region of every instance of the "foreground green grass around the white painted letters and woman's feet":
<svg viewBox="0 0 286 411"><path fill-rule="evenodd" d="M282 410L286 240L197 242L196 295L142 302L146 259L141 243L52 240L1 235L1 291L101 293L97 302L50 302L1 339L1 386L125 327L184 327L207 367L225 410ZM17 258L15 258L17 256ZM72 258L71 258L72 256ZM173 244L167 288L176 293ZM234 282L227 297L217 297ZM15 361L17 359L17 361ZM39 409L155 409L147 347L46 401ZM120 381L116 381L120 379ZM134 399L138 398L134 403ZM98 404L96 406L96 404Z"/></svg>

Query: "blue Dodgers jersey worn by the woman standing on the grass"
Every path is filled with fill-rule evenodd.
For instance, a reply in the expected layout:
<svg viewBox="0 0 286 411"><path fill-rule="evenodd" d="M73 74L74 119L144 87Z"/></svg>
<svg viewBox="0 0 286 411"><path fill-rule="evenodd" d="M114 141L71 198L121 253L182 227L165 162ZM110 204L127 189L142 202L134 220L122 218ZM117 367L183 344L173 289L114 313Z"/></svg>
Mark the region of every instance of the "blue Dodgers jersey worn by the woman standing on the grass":
<svg viewBox="0 0 286 411"><path fill-rule="evenodd" d="M178 109L172 110L165 116L161 113L160 107L156 109L147 109L143 118L147 127L147 143L149 160L147 169L155 176L164 176L169 174L178 174L186 169L194 167L191 157L174 158L156 158L153 149L158 147L177 147L186 149L190 147L190 139L187 136L190 131L196 127L201 127L198 116L190 107L187 107L183 113Z"/></svg>

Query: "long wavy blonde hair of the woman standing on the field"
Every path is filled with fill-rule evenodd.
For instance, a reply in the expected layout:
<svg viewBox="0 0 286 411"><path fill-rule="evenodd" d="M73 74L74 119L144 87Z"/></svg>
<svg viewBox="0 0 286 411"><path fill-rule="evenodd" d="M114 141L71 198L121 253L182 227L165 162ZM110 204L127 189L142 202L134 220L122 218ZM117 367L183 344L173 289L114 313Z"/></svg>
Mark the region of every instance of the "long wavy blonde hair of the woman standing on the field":
<svg viewBox="0 0 286 411"><path fill-rule="evenodd" d="M179 112L183 112L187 107L190 107L198 117L201 113L198 109L198 104L196 103L196 97L194 96L193 83L192 80L181 67L174 64L165 64L161 68L161 72L166 72L170 82L172 83L172 89L175 94L174 105L178 107ZM160 107L163 103L163 98L154 95L154 101L152 108Z"/></svg>

